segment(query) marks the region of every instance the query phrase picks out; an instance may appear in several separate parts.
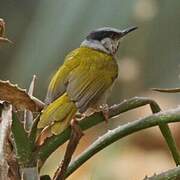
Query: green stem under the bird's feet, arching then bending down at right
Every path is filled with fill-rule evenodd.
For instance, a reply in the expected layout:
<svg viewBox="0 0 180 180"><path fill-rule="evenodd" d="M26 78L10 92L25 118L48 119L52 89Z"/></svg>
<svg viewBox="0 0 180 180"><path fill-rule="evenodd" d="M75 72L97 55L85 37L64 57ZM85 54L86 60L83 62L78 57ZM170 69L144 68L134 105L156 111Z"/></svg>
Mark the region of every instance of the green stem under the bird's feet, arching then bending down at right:
<svg viewBox="0 0 180 180"><path fill-rule="evenodd" d="M126 112L128 110L135 109L137 107L141 107L149 104L153 112L160 111L158 104L149 98L144 97L134 97L129 100L124 100L122 103L113 105L109 109L109 117L112 118L114 116L119 115L120 113ZM104 116L101 112L94 113L90 117L86 117L85 119L79 122L80 128L84 131L89 129L99 123L104 122ZM165 124L165 126L167 126ZM60 145L65 143L70 137L70 128L67 128L64 132L57 136L52 136L45 141L45 143L40 146L37 150L38 158L44 162L51 153L53 153ZM174 143L172 136L169 138ZM170 147L170 146L169 146ZM171 149L171 148L170 148Z"/></svg>

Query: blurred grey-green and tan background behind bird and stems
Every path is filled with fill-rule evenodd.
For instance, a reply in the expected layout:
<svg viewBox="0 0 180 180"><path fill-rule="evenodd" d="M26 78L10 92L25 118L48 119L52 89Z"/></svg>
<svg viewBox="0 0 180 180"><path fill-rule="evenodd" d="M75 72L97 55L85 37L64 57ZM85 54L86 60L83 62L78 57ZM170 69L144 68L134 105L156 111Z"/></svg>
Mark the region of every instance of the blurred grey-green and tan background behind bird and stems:
<svg viewBox="0 0 180 180"><path fill-rule="evenodd" d="M139 29L121 43L120 73L109 104L148 96L164 109L175 107L180 95L153 93L150 88L180 86L179 7L178 0L0 0L0 17L14 42L0 46L0 79L28 88L36 74L36 96L44 99L51 75L89 31L136 25ZM150 113L148 107L140 108L87 131L77 154L107 129ZM172 129L180 144L178 124ZM44 172L52 174L64 147L49 159ZM158 128L152 128L106 148L69 179L142 179L173 166Z"/></svg>

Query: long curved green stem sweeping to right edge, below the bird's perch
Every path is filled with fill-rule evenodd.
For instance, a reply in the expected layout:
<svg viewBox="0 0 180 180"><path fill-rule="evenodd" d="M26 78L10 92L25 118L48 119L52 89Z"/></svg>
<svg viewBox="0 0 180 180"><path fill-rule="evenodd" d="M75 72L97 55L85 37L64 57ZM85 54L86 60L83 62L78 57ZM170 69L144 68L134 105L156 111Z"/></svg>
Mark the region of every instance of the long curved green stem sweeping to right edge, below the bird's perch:
<svg viewBox="0 0 180 180"><path fill-rule="evenodd" d="M87 148L79 157L77 157L69 166L66 177L72 174L84 162L94 156L97 152L101 151L108 145L115 141L128 136L132 133L138 132L142 129L147 129L157 126L160 123L172 123L180 121L180 108L171 109L168 111L153 114L140 120L119 126L96 140L89 148Z"/></svg>

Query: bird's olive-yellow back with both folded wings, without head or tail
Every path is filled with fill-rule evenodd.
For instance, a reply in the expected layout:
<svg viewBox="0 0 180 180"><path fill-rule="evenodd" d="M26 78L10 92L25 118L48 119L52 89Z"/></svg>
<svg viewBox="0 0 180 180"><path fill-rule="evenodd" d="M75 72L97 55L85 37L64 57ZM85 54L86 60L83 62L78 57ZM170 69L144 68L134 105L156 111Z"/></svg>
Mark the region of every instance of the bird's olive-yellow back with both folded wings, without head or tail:
<svg viewBox="0 0 180 180"><path fill-rule="evenodd" d="M117 77L118 68L110 55L79 48L67 56L65 63L52 78L48 103L67 93L80 112L96 103Z"/></svg>

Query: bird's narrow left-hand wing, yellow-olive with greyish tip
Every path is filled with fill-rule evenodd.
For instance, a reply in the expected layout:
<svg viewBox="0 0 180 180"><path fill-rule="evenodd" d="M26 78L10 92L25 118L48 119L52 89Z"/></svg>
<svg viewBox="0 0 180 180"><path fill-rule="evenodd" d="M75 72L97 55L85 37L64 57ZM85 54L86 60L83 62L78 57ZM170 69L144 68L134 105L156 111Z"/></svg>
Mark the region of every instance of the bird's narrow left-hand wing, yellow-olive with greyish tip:
<svg viewBox="0 0 180 180"><path fill-rule="evenodd" d="M78 49L69 53L65 58L64 64L52 77L45 99L46 104L50 104L52 101L65 93L67 86L67 76L80 64L80 60L77 58L77 55Z"/></svg>

